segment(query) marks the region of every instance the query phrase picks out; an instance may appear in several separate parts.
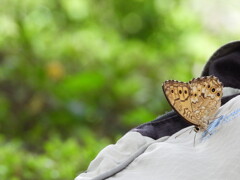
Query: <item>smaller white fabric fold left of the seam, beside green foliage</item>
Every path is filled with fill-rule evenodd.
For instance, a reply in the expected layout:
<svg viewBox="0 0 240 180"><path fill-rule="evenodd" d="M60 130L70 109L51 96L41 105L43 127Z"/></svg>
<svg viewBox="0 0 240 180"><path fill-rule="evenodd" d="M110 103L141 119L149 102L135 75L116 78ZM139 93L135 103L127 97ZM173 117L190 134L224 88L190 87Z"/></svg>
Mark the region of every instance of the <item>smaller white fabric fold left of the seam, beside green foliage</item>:
<svg viewBox="0 0 240 180"><path fill-rule="evenodd" d="M163 137L158 141L164 141ZM75 180L104 179L124 169L155 140L142 136L138 132L129 132L115 145L104 148L90 163L88 170Z"/></svg>

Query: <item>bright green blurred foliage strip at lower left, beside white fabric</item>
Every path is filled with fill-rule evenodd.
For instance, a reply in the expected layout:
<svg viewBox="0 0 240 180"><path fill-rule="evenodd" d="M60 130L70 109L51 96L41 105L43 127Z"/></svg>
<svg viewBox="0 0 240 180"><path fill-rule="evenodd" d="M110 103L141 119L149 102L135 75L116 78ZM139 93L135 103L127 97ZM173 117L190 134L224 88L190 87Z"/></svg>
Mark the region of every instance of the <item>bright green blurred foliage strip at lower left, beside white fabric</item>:
<svg viewBox="0 0 240 180"><path fill-rule="evenodd" d="M51 137L43 144L43 152L36 154L23 148L24 142L0 139L0 177L3 180L73 179L84 171L108 140L98 140L86 134L82 145L71 138L61 141ZM37 145L37 144L36 144Z"/></svg>

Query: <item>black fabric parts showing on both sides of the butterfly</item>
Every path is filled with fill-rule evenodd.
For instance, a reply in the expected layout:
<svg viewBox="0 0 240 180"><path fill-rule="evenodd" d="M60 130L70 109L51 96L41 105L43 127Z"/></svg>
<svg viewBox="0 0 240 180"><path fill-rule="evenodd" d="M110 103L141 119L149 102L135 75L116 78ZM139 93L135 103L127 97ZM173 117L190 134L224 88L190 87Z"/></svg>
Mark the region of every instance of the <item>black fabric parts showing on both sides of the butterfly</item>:
<svg viewBox="0 0 240 180"><path fill-rule="evenodd" d="M208 75L218 77L224 87L240 89L240 41L226 44L212 55L202 72L202 76ZM240 95L240 93L223 97L222 104L225 104L237 95ZM191 123L184 120L178 113L170 111L131 131L137 131L143 136L158 139L163 136L170 136L190 125Z"/></svg>

